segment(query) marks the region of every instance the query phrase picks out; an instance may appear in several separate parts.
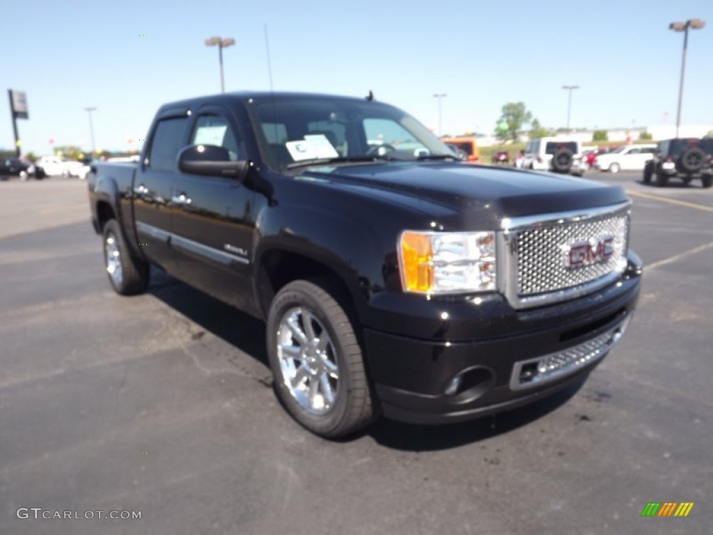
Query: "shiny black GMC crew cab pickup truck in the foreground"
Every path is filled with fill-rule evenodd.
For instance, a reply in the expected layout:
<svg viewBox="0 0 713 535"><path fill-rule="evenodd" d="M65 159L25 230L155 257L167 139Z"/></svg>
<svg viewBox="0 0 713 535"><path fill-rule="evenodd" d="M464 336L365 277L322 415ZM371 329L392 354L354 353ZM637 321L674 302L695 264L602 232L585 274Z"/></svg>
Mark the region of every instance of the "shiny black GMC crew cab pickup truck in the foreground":
<svg viewBox="0 0 713 535"><path fill-rule="evenodd" d="M114 289L155 264L265 320L275 392L322 437L578 384L639 294L621 188L460 163L371 93L167 104L88 187Z"/></svg>

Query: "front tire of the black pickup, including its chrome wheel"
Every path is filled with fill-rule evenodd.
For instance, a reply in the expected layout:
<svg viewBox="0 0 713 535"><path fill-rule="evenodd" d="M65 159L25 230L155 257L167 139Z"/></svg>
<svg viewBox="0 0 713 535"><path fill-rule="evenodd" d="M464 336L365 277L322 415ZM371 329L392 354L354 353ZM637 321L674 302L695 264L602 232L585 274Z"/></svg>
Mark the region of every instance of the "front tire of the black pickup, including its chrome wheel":
<svg viewBox="0 0 713 535"><path fill-rule="evenodd" d="M326 281L295 280L267 317L275 393L287 412L325 438L352 434L377 415L352 321Z"/></svg>

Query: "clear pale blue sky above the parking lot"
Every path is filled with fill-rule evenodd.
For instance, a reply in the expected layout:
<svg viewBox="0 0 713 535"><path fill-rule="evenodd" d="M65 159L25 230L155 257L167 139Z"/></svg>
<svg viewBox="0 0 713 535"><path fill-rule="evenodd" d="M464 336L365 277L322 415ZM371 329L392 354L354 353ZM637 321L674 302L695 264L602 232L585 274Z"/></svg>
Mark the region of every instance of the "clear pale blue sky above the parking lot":
<svg viewBox="0 0 713 535"><path fill-rule="evenodd" d="M713 123L712 0L24 0L3 8L0 147L12 148L6 90L25 91L23 151L56 145L125 150L145 137L162 103L220 91L275 90L365 96L371 89L443 133L490 133L501 106L523 101L544 126L615 128L676 117L683 34L672 21L700 18L689 34L682 123ZM148 36L141 37L140 34Z"/></svg>

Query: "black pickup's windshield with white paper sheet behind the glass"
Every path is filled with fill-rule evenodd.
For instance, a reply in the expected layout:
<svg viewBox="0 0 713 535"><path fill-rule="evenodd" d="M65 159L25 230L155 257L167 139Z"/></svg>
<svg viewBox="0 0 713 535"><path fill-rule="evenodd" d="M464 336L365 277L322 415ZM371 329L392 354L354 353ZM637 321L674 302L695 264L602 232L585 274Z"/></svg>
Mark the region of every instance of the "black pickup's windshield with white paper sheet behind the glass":
<svg viewBox="0 0 713 535"><path fill-rule="evenodd" d="M388 104L329 96L253 99L263 159L275 170L324 161L453 158L428 128Z"/></svg>

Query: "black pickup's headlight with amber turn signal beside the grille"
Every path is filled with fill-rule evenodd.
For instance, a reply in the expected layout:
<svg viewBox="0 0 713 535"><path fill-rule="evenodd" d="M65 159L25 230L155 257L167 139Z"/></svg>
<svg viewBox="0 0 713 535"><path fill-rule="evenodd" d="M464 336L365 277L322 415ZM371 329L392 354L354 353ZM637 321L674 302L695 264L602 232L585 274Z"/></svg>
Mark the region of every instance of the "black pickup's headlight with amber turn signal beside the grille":
<svg viewBox="0 0 713 535"><path fill-rule="evenodd" d="M399 238L401 287L448 294L496 290L495 233L406 230Z"/></svg>

